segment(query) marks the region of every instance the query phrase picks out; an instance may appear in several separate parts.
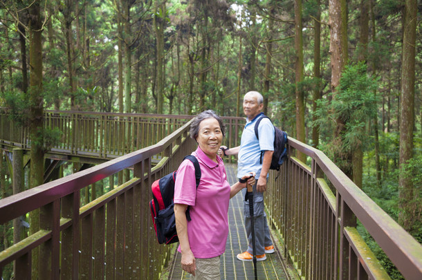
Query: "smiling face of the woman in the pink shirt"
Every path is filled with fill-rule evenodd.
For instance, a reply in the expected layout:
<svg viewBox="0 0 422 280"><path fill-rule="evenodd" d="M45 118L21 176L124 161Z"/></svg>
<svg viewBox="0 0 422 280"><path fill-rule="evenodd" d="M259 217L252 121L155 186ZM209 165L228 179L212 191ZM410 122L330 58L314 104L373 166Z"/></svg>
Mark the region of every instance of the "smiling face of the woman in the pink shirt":
<svg viewBox="0 0 422 280"><path fill-rule="evenodd" d="M209 158L215 160L215 158L217 158L217 151L223 141L223 133L218 120L215 118L208 118L200 122L196 141L201 150Z"/></svg>

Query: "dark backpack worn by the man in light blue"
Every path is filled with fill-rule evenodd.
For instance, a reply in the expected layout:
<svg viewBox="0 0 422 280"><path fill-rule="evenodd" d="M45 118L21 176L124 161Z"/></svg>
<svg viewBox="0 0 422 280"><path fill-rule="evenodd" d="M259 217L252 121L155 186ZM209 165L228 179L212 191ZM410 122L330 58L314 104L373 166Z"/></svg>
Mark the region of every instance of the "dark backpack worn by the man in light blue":
<svg viewBox="0 0 422 280"><path fill-rule="evenodd" d="M258 126L259 126L259 122L261 122L261 120L263 118L268 118L268 117L266 115L263 115L255 123L255 136L257 136L257 139L258 140L259 140ZM268 120L271 120L271 119L268 118ZM274 137L274 153L273 153L273 158L271 158L270 169L274 169L274 170L279 171L280 165L282 165L283 162L284 162L284 160L287 159L287 147L286 147L286 144L287 144L287 133L286 133L286 131L282 131L281 129L277 129L277 127L274 127L274 133L275 133L275 137ZM262 163L263 153L264 153L264 151L261 151L260 163Z"/></svg>

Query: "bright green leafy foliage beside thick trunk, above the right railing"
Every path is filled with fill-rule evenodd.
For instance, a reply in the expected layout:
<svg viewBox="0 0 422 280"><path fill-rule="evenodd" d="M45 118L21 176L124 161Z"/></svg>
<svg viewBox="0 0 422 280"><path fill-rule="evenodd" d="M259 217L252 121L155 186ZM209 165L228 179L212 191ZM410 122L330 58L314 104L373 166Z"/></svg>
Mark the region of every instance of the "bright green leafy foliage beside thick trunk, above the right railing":
<svg viewBox="0 0 422 280"><path fill-rule="evenodd" d="M329 93L317 102L315 114L318 119L313 125L333 131L337 120L345 123L341 140L332 139L321 145L327 156L333 158L342 170L351 166L345 157L350 150L366 147L363 145L367 140L365 126L376 113L375 88L376 80L367 75L365 64L358 62L345 67L337 93Z"/></svg>

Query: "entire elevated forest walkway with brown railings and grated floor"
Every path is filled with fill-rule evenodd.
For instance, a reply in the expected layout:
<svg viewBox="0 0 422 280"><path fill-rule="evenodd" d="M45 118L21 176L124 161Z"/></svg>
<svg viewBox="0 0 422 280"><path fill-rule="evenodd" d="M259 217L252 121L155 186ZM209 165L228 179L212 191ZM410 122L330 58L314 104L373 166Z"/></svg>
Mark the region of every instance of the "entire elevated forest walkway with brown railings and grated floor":
<svg viewBox="0 0 422 280"><path fill-rule="evenodd" d="M0 240L0 276L8 280L15 271L15 279L160 279L174 251L156 242L149 212L151 185L196 149L189 137L191 116L183 121L180 116L149 116L143 124L145 116L134 114L48 114L45 126L64 132L62 142L51 147L57 155L58 149L71 147L70 154L62 156L71 159L95 151L98 160L106 160L104 155L112 151L116 158L0 200L0 225L10 232L21 226L21 217L39 211L39 227L29 221L26 238L17 236L7 247ZM7 117L0 113L0 148L15 164L10 153L17 152L15 147L28 151L30 138L27 127L18 127ZM224 122L224 144L236 147L244 119L228 117ZM369 235L404 279L422 279L420 243L322 151L290 137L287 148L288 160L280 174L270 171L264 195L278 251L259 262L259 279L283 279L289 266L279 256L291 261L301 279L389 279L365 243ZM304 153L306 162L296 158L297 153ZM22 162L22 168L28 166ZM52 162L47 171L57 165ZM115 185L114 177L121 171L125 176ZM95 184L107 186L107 192L89 198ZM252 263L235 259L246 249L241 199L235 197L230 208L230 247L222 260L226 279L253 275ZM174 275L180 268L177 257L170 265Z"/></svg>

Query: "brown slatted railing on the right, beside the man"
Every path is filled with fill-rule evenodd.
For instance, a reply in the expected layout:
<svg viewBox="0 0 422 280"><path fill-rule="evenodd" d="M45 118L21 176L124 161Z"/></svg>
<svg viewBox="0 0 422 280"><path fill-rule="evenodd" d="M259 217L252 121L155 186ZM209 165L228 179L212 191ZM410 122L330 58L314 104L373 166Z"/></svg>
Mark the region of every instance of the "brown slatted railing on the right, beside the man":
<svg viewBox="0 0 422 280"><path fill-rule="evenodd" d="M356 230L357 218L405 279L422 279L422 245L322 151L293 138L288 142L291 156L277 180L271 171L265 203L300 276L389 279ZM295 158L295 151L305 153L311 167Z"/></svg>

